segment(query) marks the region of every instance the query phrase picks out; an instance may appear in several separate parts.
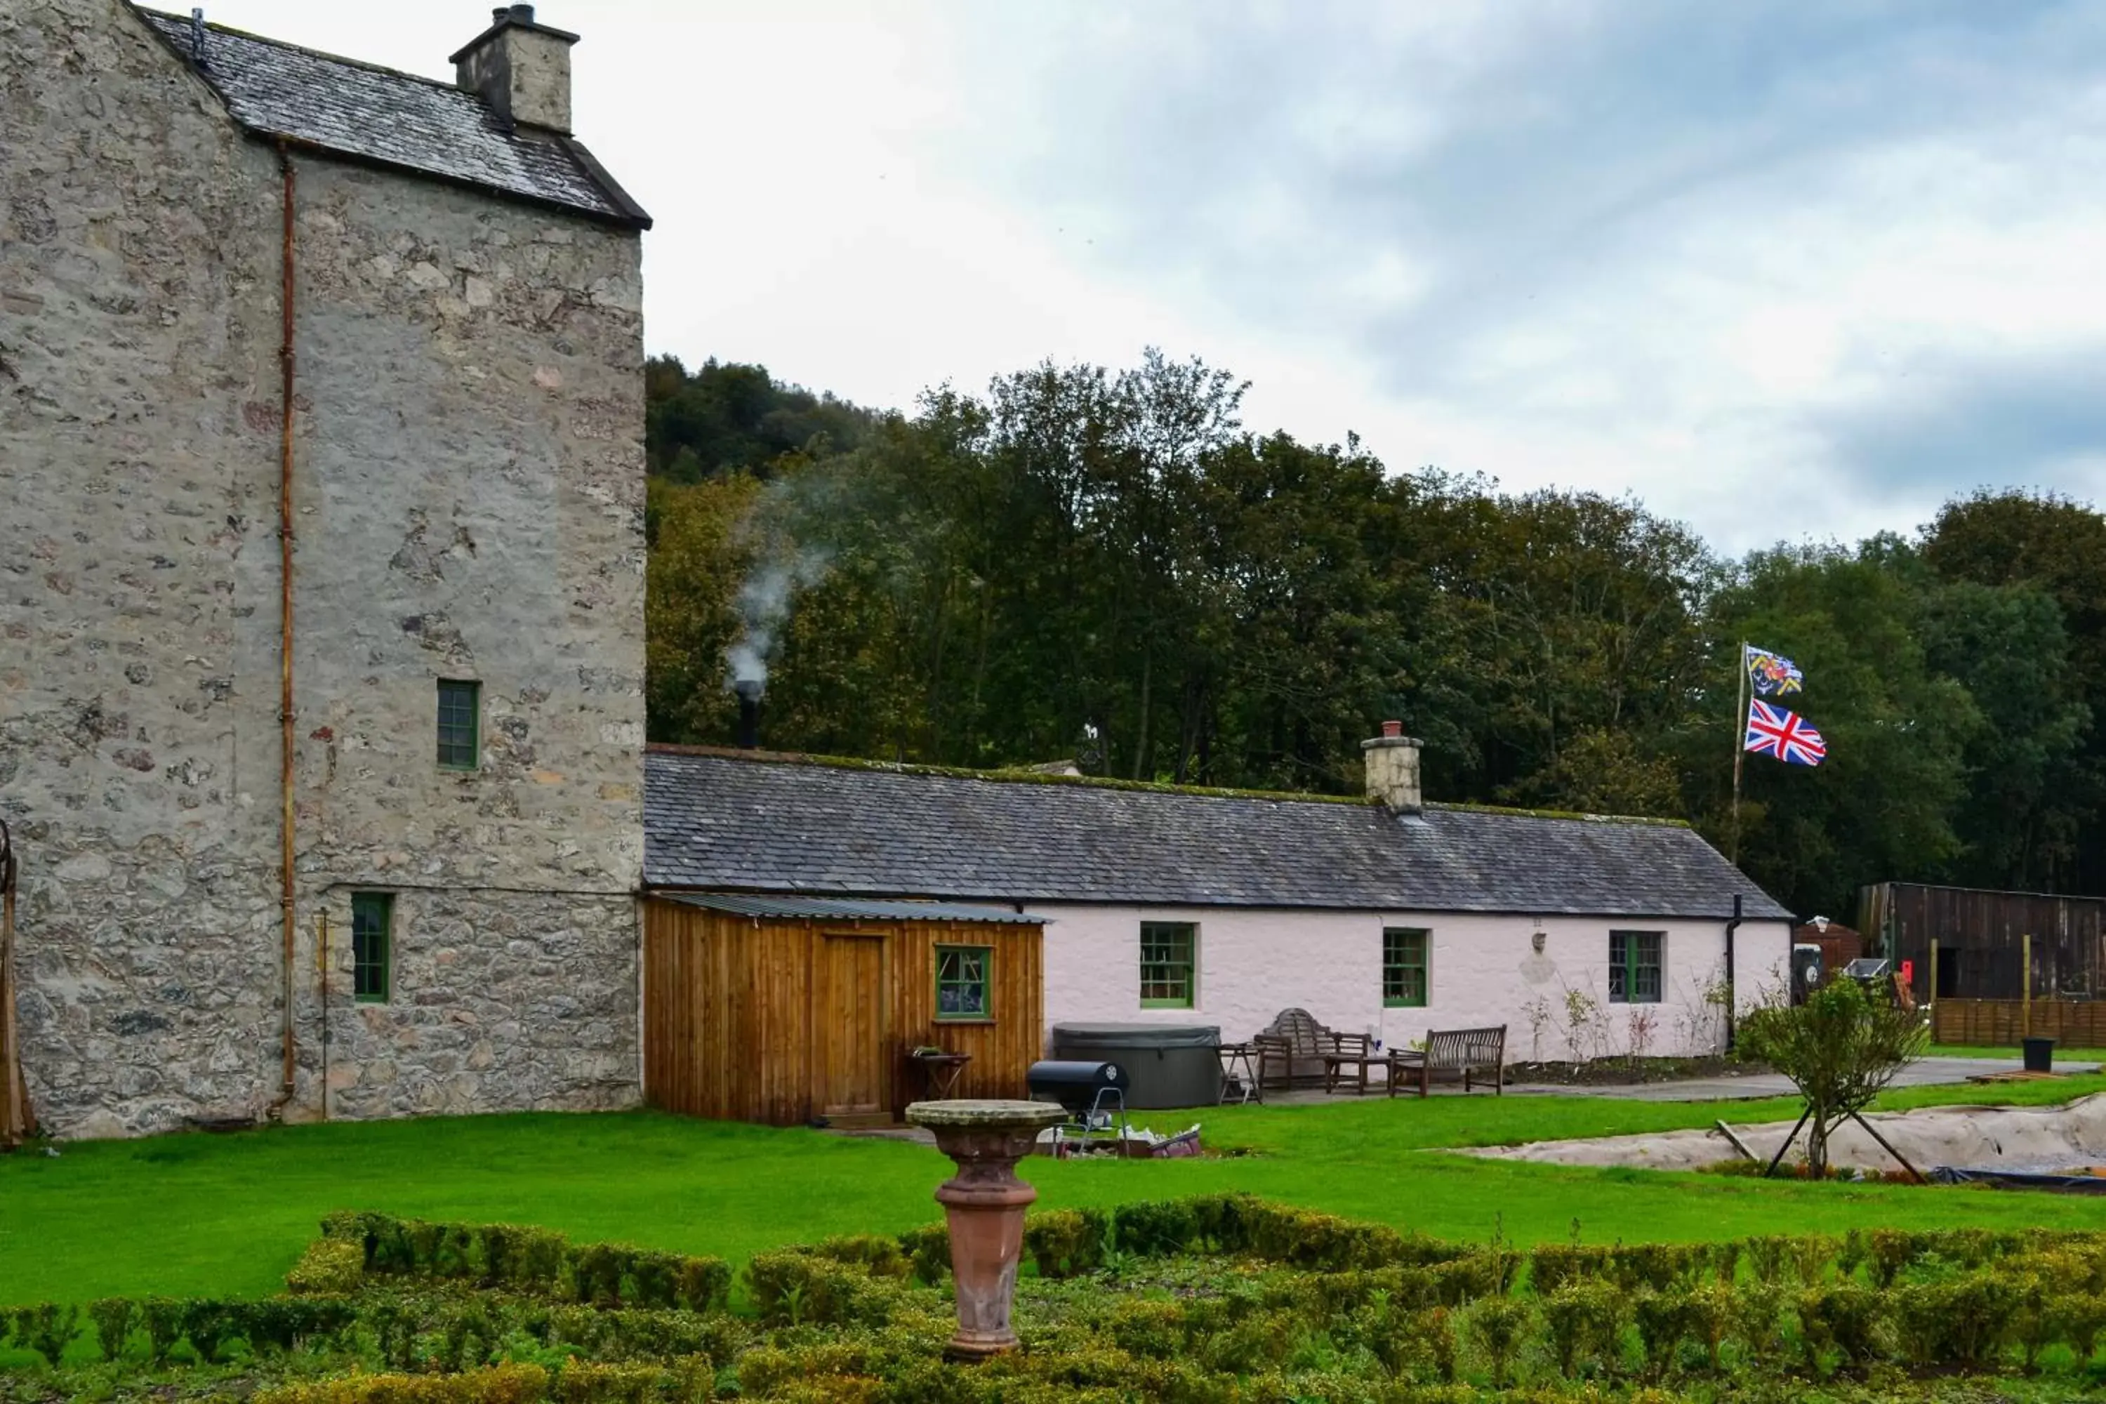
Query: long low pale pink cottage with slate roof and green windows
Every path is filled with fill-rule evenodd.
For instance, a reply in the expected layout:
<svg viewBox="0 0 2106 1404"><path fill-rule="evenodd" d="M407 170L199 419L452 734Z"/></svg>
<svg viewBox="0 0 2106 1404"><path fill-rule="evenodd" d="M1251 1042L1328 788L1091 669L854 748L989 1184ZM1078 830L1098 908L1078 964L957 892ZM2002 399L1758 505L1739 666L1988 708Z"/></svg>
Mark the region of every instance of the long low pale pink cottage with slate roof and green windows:
<svg viewBox="0 0 2106 1404"><path fill-rule="evenodd" d="M653 747L644 876L1009 905L1047 922L1047 1025L1695 1055L1784 981L1790 911L1687 825L1426 804L1417 756L1386 724L1346 800Z"/></svg>

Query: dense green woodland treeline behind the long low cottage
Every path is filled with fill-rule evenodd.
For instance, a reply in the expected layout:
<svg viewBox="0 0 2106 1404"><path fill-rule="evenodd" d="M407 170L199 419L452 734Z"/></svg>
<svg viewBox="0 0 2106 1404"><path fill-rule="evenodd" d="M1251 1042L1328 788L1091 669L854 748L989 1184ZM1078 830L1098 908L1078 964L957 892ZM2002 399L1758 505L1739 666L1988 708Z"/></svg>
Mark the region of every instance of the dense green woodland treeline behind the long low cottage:
<svg viewBox="0 0 2106 1404"><path fill-rule="evenodd" d="M649 383L653 739L733 739L727 650L758 631L771 747L1354 791L1400 718L1428 798L1725 846L1752 640L1805 669L1792 705L1828 739L1820 768L1746 764L1742 865L1786 903L2106 890L2089 505L1984 490L1914 535L1731 560L1630 497L1255 434L1234 377L1160 354L912 415L760 366Z"/></svg>

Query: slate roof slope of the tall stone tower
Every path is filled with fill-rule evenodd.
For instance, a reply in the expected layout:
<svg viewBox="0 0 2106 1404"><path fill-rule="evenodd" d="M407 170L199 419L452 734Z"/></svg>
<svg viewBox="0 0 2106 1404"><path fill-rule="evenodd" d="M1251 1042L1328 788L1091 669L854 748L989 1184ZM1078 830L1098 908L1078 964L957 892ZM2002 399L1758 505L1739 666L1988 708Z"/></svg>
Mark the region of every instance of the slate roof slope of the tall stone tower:
<svg viewBox="0 0 2106 1404"><path fill-rule="evenodd" d="M651 227L581 141L512 128L476 93L213 23L198 65L190 17L133 8L257 137Z"/></svg>

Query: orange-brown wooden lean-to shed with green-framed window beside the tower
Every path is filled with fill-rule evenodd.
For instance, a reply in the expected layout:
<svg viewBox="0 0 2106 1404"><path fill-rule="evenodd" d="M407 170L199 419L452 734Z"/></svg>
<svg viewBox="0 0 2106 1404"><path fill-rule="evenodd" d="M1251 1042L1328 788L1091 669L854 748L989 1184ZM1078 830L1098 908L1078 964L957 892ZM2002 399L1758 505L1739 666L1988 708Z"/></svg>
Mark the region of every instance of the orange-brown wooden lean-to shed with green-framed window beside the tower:
<svg viewBox="0 0 2106 1404"><path fill-rule="evenodd" d="M952 1097L1024 1097L1045 1027L1042 918L1002 907L653 892L644 1101L794 1126L891 1124L916 1048L971 1055Z"/></svg>

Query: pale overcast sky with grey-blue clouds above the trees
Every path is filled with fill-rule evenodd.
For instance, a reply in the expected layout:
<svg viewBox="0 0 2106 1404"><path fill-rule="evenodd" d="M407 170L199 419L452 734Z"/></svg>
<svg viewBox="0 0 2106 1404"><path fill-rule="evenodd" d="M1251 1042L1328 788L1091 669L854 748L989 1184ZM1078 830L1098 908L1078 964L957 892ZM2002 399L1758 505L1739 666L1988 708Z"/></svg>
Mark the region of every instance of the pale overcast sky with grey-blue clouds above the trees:
<svg viewBox="0 0 2106 1404"><path fill-rule="evenodd" d="M168 8L177 8L171 4ZM451 0L206 0L446 76ZM653 352L874 406L1144 345L1727 549L2106 484L2106 4L545 0Z"/></svg>

